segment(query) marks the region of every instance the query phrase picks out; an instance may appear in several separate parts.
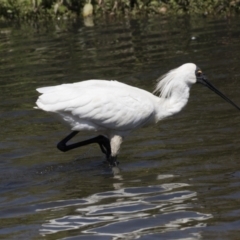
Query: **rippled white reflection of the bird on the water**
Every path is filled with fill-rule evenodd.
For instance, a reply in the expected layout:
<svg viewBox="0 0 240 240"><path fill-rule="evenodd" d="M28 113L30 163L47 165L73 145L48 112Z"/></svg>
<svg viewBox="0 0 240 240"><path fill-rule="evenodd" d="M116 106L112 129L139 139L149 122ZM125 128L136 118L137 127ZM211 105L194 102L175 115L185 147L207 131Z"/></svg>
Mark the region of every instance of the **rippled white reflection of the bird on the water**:
<svg viewBox="0 0 240 240"><path fill-rule="evenodd" d="M158 175L156 179L169 177L173 176ZM118 179L122 179L121 175ZM181 230L178 239L186 239L190 236L197 239L201 235L199 228L205 227L205 220L212 218L212 215L193 210L192 202L197 201L197 193L186 190L188 186L189 184L185 183L166 183L119 189L118 185L117 190L73 200L73 205L69 204L71 200L58 201L57 207L49 208L44 204L45 206L41 206L37 211L57 211L58 208L71 206L74 206L75 210L72 215L44 223L40 234L45 236L79 229L78 237L83 239L94 236L96 238L109 236L111 239L142 239L146 235L169 234Z"/></svg>

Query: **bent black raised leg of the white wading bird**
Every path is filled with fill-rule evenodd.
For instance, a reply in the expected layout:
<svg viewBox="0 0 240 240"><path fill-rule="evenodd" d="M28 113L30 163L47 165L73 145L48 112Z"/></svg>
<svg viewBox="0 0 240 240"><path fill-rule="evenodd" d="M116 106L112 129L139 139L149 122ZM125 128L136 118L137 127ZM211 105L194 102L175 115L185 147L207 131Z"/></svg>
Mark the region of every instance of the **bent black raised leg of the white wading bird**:
<svg viewBox="0 0 240 240"><path fill-rule="evenodd" d="M67 152L69 150L72 150L74 148L78 148L78 147L82 147L82 146L86 146L92 143L98 143L101 151L106 154L107 159L109 159L109 157L111 156L111 146L110 146L110 141L108 138L99 135L97 137L82 141L82 142L77 142L77 143L72 143L69 145L66 145L66 143L72 139L74 136L76 136L78 134L78 131L73 131L71 132L67 137L65 137L62 141L60 141L57 144L57 148L62 151L62 152Z"/></svg>

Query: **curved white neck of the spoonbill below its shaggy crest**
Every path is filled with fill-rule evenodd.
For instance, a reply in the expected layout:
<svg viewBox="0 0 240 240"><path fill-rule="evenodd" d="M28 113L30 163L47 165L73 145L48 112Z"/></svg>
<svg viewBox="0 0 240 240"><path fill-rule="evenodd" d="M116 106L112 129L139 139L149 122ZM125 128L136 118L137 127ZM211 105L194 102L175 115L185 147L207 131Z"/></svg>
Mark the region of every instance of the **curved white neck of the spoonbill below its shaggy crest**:
<svg viewBox="0 0 240 240"><path fill-rule="evenodd" d="M158 114L158 121L180 112L187 104L190 87L177 88L172 91L171 96L160 98L161 109Z"/></svg>

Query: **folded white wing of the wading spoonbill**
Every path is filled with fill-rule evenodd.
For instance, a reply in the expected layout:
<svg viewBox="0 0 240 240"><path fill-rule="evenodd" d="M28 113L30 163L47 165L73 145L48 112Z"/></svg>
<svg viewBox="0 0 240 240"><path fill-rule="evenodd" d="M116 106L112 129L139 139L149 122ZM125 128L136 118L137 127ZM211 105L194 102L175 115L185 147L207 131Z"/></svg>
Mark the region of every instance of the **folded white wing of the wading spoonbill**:
<svg viewBox="0 0 240 240"><path fill-rule="evenodd" d="M36 102L40 109L74 118L76 125L84 121L129 131L154 114L150 93L116 81L91 80L37 90L42 93Z"/></svg>

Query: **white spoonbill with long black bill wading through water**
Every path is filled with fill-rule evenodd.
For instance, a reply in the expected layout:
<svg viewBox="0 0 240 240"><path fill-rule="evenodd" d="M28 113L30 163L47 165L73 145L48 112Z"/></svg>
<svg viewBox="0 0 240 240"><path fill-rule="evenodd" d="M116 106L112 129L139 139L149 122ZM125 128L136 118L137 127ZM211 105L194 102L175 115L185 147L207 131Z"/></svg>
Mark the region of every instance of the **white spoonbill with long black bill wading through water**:
<svg viewBox="0 0 240 240"><path fill-rule="evenodd" d="M54 113L73 131L58 143L59 150L65 152L98 143L113 166L117 165L124 137L181 111L194 83L207 86L240 110L193 63L183 64L162 76L153 92L159 96L118 81L87 80L38 88L42 95L35 108ZM67 145L79 131L92 131L98 136Z"/></svg>

